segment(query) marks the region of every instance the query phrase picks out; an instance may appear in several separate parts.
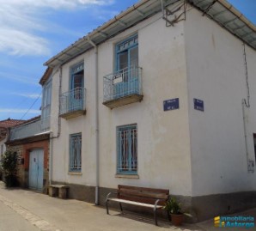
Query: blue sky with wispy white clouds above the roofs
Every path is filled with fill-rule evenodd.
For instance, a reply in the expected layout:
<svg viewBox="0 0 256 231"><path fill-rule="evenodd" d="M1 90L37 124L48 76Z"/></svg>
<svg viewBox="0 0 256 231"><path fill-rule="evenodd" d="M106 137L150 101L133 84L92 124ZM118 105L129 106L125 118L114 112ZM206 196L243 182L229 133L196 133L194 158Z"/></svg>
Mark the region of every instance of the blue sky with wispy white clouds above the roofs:
<svg viewBox="0 0 256 231"><path fill-rule="evenodd" d="M136 0L0 0L0 120L40 114L43 64ZM230 0L256 24L256 0Z"/></svg>

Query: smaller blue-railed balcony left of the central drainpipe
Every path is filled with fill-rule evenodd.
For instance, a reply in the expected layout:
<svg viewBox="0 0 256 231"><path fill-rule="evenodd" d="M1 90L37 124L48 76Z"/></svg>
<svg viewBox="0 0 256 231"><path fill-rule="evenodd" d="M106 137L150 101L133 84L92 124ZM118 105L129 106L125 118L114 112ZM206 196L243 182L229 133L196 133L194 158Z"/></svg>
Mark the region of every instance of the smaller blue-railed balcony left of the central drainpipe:
<svg viewBox="0 0 256 231"><path fill-rule="evenodd" d="M75 88L61 94L59 116L71 119L85 114L85 92L84 88Z"/></svg>

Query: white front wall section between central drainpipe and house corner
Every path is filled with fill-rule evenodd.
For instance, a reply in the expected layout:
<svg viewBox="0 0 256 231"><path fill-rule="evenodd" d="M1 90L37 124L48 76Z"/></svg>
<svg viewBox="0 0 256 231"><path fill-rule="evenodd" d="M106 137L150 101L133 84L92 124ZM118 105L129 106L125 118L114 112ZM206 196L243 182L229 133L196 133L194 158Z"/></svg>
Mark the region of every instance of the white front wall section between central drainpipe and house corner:
<svg viewBox="0 0 256 231"><path fill-rule="evenodd" d="M135 32L139 66L143 68L143 101L113 110L100 106L100 185L160 187L169 188L173 194L190 195L183 23L166 27L161 14L155 15L100 46L100 101L102 76L113 72L115 43ZM174 98L180 99L180 109L164 112L163 100ZM116 127L130 124L137 124L139 179L116 178Z"/></svg>

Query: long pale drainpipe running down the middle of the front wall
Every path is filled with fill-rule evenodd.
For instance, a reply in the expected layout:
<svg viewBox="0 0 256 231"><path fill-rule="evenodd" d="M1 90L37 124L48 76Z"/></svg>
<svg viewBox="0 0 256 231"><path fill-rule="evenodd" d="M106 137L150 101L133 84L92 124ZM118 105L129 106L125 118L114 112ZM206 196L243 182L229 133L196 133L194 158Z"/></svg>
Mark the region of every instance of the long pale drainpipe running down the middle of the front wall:
<svg viewBox="0 0 256 231"><path fill-rule="evenodd" d="M99 204L99 181L100 181L100 167L99 167L99 61L98 61L98 46L94 44L92 40L88 39L88 42L94 46L95 49L95 157L96 157L96 185L95 185L95 204Z"/></svg>

